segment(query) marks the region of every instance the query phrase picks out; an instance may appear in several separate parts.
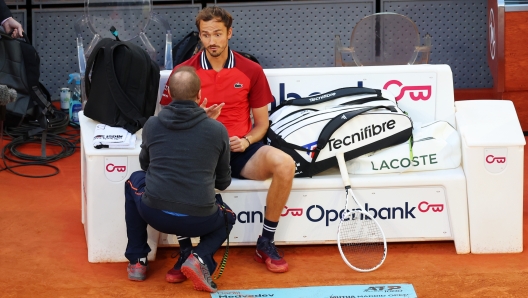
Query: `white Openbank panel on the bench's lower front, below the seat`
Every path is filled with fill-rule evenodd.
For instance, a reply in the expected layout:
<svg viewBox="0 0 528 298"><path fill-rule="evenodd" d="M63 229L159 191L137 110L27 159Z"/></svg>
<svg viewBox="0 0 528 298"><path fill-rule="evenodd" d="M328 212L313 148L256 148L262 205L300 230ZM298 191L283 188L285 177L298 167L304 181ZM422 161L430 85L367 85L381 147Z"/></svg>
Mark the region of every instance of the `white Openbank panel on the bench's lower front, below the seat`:
<svg viewBox="0 0 528 298"><path fill-rule="evenodd" d="M230 233L231 242L247 243L257 239L262 231L266 194L265 191L222 194L228 205L238 207L233 210L237 221ZM354 194L379 222L387 239L452 239L442 187L354 189ZM281 214L282 228L277 229L275 240L337 240L345 201L344 190L292 191ZM351 208L357 208L351 204Z"/></svg>

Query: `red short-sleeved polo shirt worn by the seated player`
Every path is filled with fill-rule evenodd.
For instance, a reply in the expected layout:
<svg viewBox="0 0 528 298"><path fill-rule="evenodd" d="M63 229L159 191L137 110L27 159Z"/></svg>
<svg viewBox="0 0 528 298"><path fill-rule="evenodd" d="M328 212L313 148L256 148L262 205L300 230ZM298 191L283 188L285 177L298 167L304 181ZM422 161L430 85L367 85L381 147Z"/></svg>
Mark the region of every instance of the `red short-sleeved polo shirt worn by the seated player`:
<svg viewBox="0 0 528 298"><path fill-rule="evenodd" d="M196 69L202 83L202 101L207 98L207 106L225 103L217 120L224 124L230 137L243 137L251 130L250 108L260 108L274 100L262 67L237 52L229 50L224 68L219 72L209 63L205 51L174 69L183 65ZM161 105L172 100L168 88L165 85Z"/></svg>

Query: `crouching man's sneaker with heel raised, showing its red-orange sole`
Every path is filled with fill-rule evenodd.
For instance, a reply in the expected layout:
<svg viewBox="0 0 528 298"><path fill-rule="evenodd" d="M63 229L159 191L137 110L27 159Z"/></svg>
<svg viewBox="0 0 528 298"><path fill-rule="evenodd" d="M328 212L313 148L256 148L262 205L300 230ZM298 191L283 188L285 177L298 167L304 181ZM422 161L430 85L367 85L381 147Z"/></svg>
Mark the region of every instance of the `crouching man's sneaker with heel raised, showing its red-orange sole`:
<svg viewBox="0 0 528 298"><path fill-rule="evenodd" d="M211 278L209 269L207 269L207 266L205 266L204 262L197 254L192 253L187 260L185 260L181 271L193 282L195 290L210 293L215 293L217 291L216 284Z"/></svg>

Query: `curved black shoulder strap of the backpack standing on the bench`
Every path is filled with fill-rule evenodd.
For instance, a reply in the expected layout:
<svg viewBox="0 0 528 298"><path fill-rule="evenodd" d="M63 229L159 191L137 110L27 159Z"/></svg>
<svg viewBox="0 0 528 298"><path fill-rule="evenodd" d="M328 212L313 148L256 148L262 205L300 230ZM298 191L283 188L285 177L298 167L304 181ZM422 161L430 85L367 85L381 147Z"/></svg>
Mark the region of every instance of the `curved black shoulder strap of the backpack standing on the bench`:
<svg viewBox="0 0 528 298"><path fill-rule="evenodd" d="M127 123L118 121L120 122L118 124L123 126L130 133L135 133L141 127L143 127L143 125L147 121L147 118L145 118L144 115L139 112L138 107L136 107L131 101L127 100L128 98L127 94L125 93L123 88L121 88L121 85L119 85L119 81L115 74L115 68L114 68L114 51L118 47L127 47L130 51L133 51L133 49L131 49L131 47L127 43L116 42L116 44L112 45L108 51L104 52L107 83L108 83L109 90L112 93L112 97L114 98L114 102L116 103L119 110L121 110L121 113L126 118L128 118L127 120L134 122L134 124L130 124L130 122L128 121L126 121ZM150 57L147 57L147 58L150 60Z"/></svg>

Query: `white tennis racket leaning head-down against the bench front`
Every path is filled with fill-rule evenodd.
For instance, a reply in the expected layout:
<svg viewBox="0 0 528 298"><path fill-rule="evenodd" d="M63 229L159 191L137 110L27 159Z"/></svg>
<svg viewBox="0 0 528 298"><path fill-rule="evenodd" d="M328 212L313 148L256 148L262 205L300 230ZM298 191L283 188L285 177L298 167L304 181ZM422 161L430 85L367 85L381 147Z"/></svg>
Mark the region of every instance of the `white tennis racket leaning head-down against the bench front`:
<svg viewBox="0 0 528 298"><path fill-rule="evenodd" d="M337 246L343 261L352 269L369 272L378 269L387 256L387 240L378 222L365 212L350 187L350 178L343 153L336 155L345 184L346 204L339 229ZM357 205L352 209L350 197Z"/></svg>

